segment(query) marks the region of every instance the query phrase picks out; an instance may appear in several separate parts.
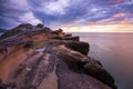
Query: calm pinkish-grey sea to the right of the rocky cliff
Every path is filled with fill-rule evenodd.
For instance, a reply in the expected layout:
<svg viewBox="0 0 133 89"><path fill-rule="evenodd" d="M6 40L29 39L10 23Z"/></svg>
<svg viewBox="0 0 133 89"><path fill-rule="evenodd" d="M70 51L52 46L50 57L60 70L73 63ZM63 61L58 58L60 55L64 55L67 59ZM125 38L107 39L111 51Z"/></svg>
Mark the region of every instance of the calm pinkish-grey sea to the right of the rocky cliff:
<svg viewBox="0 0 133 89"><path fill-rule="evenodd" d="M133 89L133 33L73 33L91 46L89 56L100 60L119 89Z"/></svg>

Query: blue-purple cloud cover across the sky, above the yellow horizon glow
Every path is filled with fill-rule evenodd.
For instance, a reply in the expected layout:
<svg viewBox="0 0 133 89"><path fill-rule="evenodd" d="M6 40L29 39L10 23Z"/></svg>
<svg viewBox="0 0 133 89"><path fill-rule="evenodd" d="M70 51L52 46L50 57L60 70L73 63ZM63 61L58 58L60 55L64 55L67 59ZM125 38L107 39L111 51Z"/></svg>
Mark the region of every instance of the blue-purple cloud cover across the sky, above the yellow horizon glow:
<svg viewBox="0 0 133 89"><path fill-rule="evenodd" d="M57 2L50 6L48 3ZM61 0L60 0L61 1ZM117 21L123 18L112 18L119 12L126 13L130 20L133 18L133 2L131 0L66 0L60 3L59 0L27 0L25 7L13 6L13 0L1 0L0 3L0 27L21 23L23 16L31 13L33 19L42 21L45 19L47 26L58 26L65 23L89 23L102 21ZM16 2L14 2L16 3ZM19 3L21 4L21 3ZM45 8L47 7L47 8ZM51 8L52 7L52 8ZM28 8L28 9L27 9ZM51 9L50 9L51 8ZM60 9L60 10L58 10ZM62 12L63 13L60 13ZM52 13L53 12L53 13ZM21 17L21 19L20 19ZM25 16L27 17L27 16ZM29 16L28 16L29 17ZM27 18L28 18L27 17ZM25 18L25 21L28 20Z"/></svg>

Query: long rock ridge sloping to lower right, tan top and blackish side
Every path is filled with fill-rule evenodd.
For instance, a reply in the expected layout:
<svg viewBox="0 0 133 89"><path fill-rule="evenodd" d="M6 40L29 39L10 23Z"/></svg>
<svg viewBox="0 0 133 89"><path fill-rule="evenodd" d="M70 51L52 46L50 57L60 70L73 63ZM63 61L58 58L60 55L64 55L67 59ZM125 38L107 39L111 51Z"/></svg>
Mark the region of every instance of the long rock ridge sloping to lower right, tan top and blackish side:
<svg viewBox="0 0 133 89"><path fill-rule="evenodd" d="M54 51L58 53L58 57L65 62L70 70L79 73L86 72L101 82L116 89L113 77L96 60L70 50L64 46L57 47Z"/></svg>

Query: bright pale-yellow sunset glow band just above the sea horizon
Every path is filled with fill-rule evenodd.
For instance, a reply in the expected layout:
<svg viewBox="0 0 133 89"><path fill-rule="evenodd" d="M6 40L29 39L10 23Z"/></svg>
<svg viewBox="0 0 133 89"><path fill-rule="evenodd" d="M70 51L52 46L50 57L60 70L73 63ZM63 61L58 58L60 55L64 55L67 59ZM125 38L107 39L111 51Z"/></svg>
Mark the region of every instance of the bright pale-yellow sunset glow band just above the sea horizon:
<svg viewBox="0 0 133 89"><path fill-rule="evenodd" d="M62 27L65 32L133 32L133 24L126 21L119 23L90 23L84 26Z"/></svg>

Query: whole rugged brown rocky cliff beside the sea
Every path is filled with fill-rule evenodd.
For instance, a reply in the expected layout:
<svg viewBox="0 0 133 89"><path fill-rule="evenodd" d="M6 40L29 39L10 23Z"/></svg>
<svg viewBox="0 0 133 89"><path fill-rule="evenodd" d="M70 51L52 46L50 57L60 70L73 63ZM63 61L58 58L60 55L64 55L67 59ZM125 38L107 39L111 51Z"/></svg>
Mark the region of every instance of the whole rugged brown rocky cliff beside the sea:
<svg viewBox="0 0 133 89"><path fill-rule="evenodd" d="M0 38L0 89L116 89L89 50L62 29L20 24Z"/></svg>

